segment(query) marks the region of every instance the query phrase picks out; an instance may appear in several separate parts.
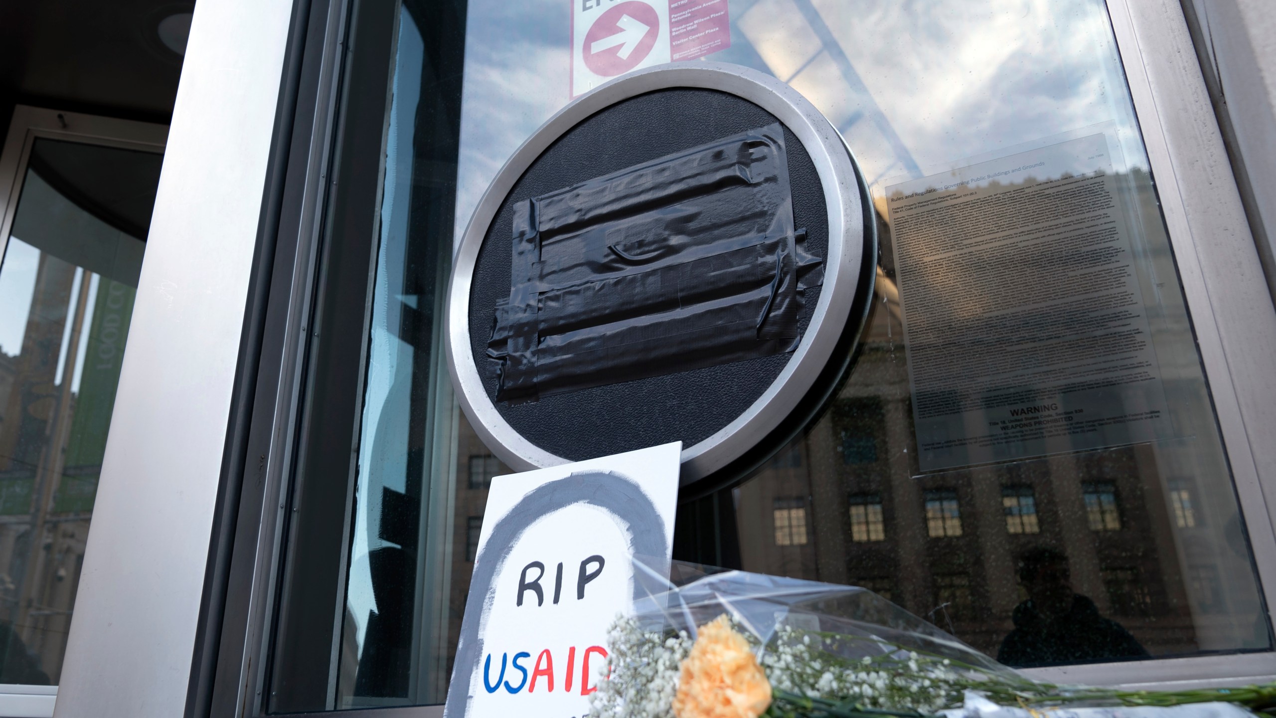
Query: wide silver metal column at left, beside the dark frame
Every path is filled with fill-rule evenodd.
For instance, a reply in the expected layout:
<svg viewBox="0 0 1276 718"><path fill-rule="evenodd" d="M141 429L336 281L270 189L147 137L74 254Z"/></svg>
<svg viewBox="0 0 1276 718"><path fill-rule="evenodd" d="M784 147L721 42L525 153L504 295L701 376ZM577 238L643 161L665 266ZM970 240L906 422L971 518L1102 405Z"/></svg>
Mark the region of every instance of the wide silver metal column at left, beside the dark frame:
<svg viewBox="0 0 1276 718"><path fill-rule="evenodd" d="M194 9L55 715L186 710L292 10Z"/></svg>

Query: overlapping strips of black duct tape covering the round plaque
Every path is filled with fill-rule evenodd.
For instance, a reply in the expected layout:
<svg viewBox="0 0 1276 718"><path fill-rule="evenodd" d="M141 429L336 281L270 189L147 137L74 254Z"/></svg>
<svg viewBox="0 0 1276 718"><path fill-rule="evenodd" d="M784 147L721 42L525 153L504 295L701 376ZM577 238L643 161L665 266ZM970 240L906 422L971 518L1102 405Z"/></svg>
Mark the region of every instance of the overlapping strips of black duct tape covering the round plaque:
<svg viewBox="0 0 1276 718"><path fill-rule="evenodd" d="M792 351L822 272L791 202L778 123L518 202L496 399Z"/></svg>

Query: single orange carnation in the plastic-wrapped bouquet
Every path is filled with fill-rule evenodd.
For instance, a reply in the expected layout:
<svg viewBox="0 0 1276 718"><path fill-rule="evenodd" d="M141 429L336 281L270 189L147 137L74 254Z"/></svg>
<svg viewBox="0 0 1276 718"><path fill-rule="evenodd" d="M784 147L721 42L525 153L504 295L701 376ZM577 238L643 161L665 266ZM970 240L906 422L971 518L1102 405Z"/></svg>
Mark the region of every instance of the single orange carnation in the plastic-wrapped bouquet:
<svg viewBox="0 0 1276 718"><path fill-rule="evenodd" d="M674 696L678 718L758 718L771 705L771 684L726 615L701 626L683 661Z"/></svg>

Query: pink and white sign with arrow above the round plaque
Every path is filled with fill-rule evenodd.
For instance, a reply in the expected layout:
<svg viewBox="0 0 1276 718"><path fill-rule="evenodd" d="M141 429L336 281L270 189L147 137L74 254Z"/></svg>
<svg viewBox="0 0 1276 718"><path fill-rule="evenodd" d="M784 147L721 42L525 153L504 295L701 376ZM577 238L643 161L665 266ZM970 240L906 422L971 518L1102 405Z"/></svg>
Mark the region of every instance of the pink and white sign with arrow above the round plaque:
<svg viewBox="0 0 1276 718"><path fill-rule="evenodd" d="M568 0L572 96L632 70L731 46L727 0Z"/></svg>

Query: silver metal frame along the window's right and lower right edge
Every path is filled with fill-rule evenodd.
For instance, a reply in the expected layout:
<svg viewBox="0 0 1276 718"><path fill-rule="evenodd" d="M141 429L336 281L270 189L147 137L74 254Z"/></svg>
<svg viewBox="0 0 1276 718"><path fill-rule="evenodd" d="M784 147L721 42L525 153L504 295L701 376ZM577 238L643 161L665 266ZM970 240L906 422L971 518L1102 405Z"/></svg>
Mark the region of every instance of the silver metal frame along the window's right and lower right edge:
<svg viewBox="0 0 1276 718"><path fill-rule="evenodd" d="M1276 598L1276 308L1178 0L1108 0L1268 618ZM1025 671L1193 687L1276 680L1276 652Z"/></svg>

